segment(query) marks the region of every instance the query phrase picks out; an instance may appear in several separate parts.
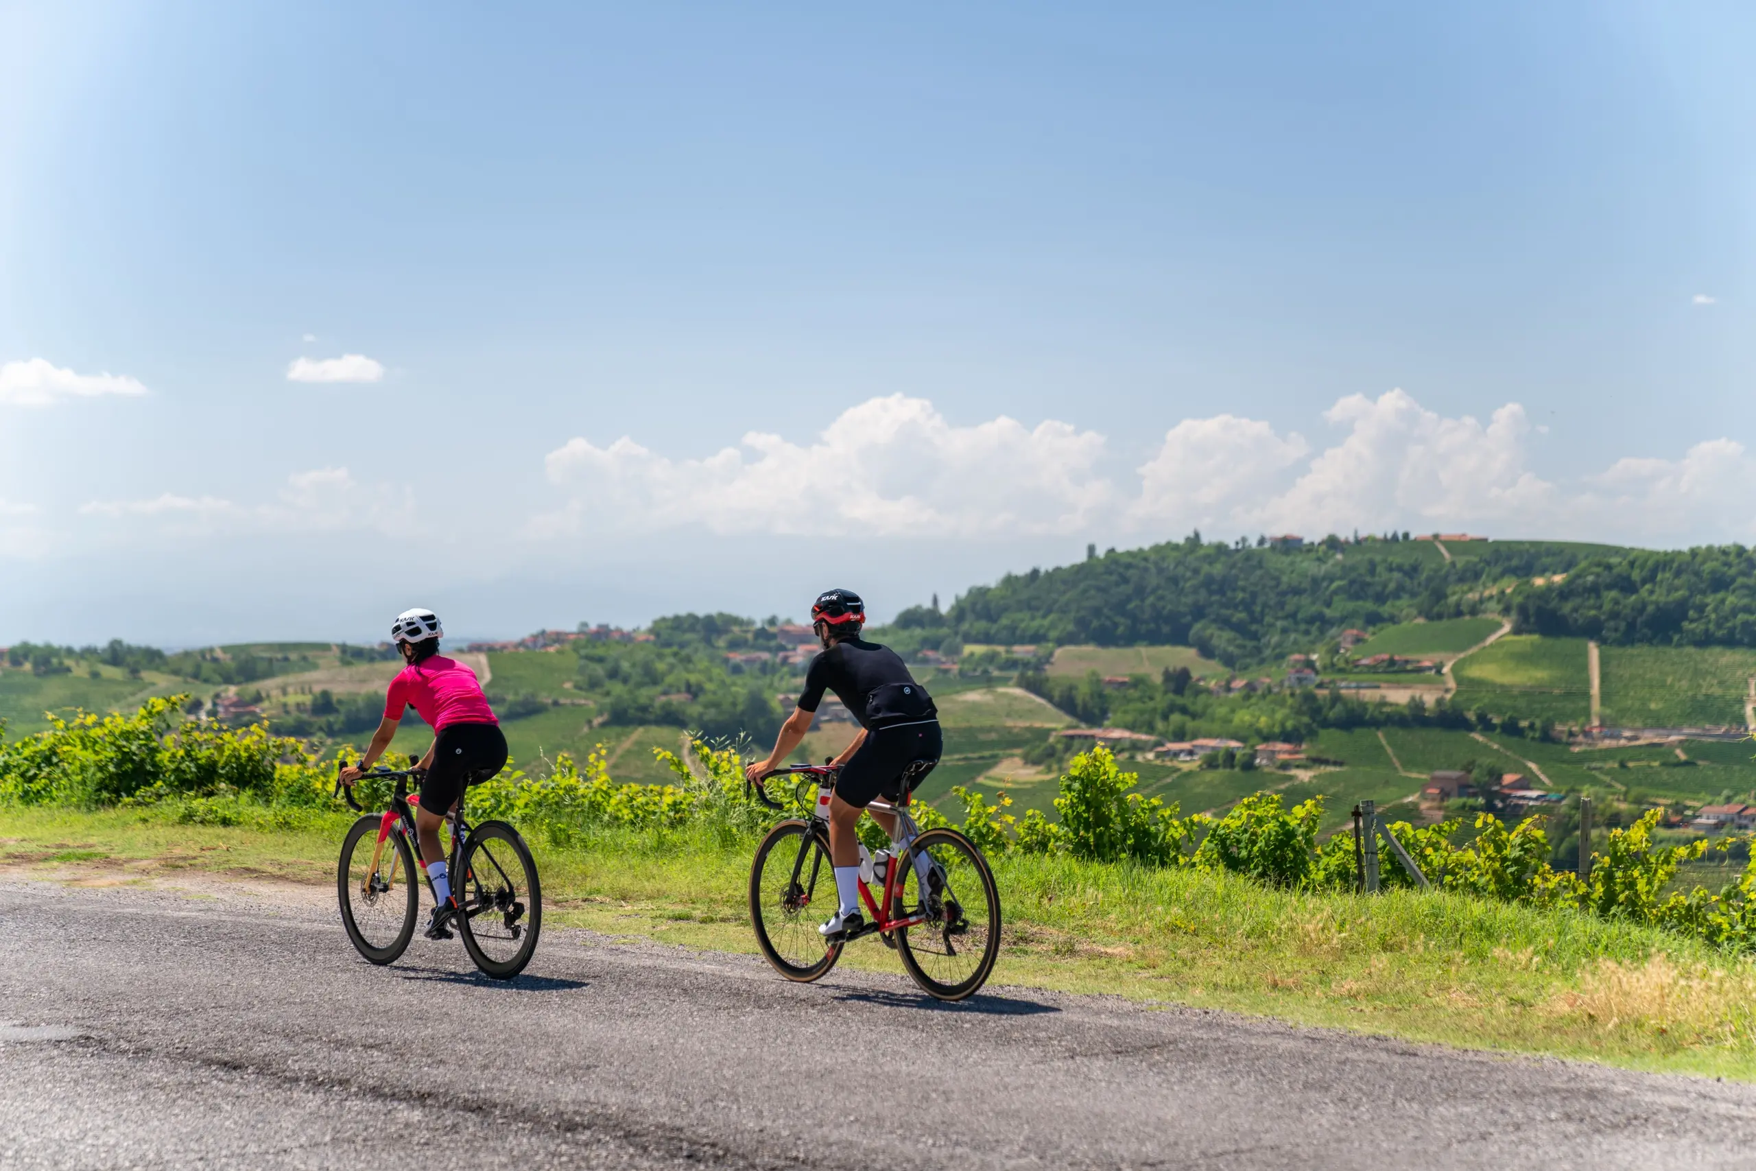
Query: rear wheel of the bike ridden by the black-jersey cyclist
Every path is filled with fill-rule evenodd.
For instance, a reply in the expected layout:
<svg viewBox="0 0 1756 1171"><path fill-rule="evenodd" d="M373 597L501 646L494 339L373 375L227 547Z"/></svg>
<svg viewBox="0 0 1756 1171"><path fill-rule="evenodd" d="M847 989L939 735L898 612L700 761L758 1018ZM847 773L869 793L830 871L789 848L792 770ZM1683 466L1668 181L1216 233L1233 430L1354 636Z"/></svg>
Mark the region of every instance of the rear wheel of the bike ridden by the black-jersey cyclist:
<svg viewBox="0 0 1756 1171"><path fill-rule="evenodd" d="M901 871L904 876L904 888L911 887L917 895L910 901L904 892L904 904L920 904L920 878L915 871L915 857L922 851L925 851L929 858L941 862L941 866L950 862L950 866L943 867L945 871L950 871L946 874L948 885L945 894L952 895L946 902L959 906L957 922L941 920L934 923L920 923L917 927L897 927L896 952L903 960L903 967L908 971L910 978L920 985L922 992L939 1001L962 1001L964 997L975 995L976 990L987 983L989 974L994 971L994 960L999 959L999 887L994 883L992 867L989 867L987 858L982 857L982 850L978 850L973 841L954 829L929 829L910 843L901 858L892 862L892 866L908 867ZM971 906L962 906L962 902L969 899L971 881L985 904L980 911L980 922L968 915L968 911L973 909ZM980 952L975 964L955 966L950 962L959 959L957 945L954 943L955 939L962 939L966 946L971 939L980 941ZM931 946L934 941L938 941L936 948ZM932 971L929 971L929 967ZM939 978L948 976L954 971L957 973L955 980Z"/></svg>

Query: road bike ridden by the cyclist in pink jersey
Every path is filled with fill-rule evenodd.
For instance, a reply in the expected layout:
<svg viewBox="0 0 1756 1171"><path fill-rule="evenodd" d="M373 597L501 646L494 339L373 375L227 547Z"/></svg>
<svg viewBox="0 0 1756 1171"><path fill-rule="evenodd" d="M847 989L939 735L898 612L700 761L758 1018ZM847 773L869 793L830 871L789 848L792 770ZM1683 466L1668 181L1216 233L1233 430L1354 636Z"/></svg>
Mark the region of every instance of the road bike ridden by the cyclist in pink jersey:
<svg viewBox="0 0 1756 1171"><path fill-rule="evenodd" d="M420 776L418 769L363 774L362 781L397 783L388 809L365 813L355 801L353 788L341 783L337 765L337 792L346 795L351 809L365 813L348 830L341 864L335 867L341 922L353 946L374 964L395 962L414 939L421 881L432 897L427 869L416 869L414 862L420 855L414 836L414 806L420 797L409 795L409 778ZM457 811L446 816L446 825L451 830L451 853L446 858L451 895L460 909L451 925L464 936L464 950L485 976L511 980L530 962L543 932L543 887L530 848L506 822L465 822L462 799ZM435 906L437 902L434 897Z"/></svg>

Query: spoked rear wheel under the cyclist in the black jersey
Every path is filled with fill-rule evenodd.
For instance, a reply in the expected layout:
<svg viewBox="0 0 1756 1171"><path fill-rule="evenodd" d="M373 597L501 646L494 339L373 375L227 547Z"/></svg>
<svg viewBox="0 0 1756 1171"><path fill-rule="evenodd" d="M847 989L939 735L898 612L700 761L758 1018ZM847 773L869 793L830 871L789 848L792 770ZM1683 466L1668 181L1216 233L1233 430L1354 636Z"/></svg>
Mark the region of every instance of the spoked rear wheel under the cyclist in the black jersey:
<svg viewBox="0 0 1756 1171"><path fill-rule="evenodd" d="M917 866L917 858L931 866ZM903 867L904 916L922 911L929 916L896 930L903 967L941 1001L975 995L999 957L999 887L987 858L957 830L929 829L892 866Z"/></svg>

